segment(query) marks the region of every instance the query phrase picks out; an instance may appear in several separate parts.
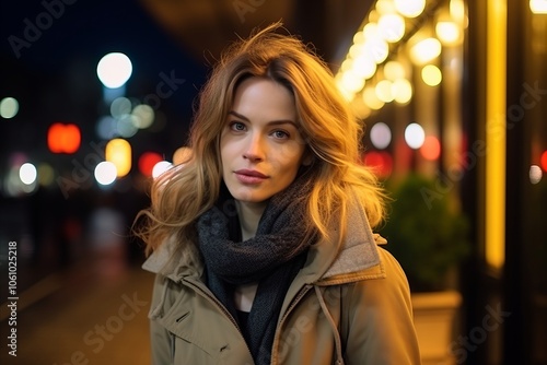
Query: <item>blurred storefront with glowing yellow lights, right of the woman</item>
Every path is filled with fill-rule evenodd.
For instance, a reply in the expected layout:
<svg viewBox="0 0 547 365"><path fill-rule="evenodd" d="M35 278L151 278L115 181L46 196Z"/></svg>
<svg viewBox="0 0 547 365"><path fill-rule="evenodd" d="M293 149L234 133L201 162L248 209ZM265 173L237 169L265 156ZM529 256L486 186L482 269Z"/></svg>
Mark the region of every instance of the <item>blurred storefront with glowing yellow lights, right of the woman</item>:
<svg viewBox="0 0 547 365"><path fill-rule="evenodd" d="M364 162L470 223L457 364L547 363L546 35L547 1L377 0L337 70Z"/></svg>

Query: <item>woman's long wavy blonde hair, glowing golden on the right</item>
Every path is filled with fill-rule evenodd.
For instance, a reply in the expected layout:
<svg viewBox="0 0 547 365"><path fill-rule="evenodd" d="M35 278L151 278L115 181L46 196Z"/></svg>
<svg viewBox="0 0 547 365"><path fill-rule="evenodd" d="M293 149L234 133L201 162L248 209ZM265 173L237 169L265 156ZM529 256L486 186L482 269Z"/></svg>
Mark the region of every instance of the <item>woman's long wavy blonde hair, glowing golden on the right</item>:
<svg viewBox="0 0 547 365"><path fill-rule="evenodd" d="M237 85L249 76L274 80L294 97L300 132L313 155L311 228L327 238L335 228L340 244L350 200L364 207L371 226L383 220L384 192L360 158L362 123L350 113L326 63L299 38L280 34L280 28L275 23L234 43L213 68L190 127L188 160L153 182L151 207L138 215L146 217L138 235L147 254L170 237L179 245L196 239L196 219L219 197L221 131Z"/></svg>

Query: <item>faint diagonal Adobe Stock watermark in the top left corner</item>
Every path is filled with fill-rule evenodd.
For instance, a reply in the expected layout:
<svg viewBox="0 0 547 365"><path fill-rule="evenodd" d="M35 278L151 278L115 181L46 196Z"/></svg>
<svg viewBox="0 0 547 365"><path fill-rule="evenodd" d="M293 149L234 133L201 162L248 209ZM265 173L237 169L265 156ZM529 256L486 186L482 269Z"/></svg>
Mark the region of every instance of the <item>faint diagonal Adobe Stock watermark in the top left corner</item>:
<svg viewBox="0 0 547 365"><path fill-rule="evenodd" d="M39 12L34 21L28 17L23 20L23 33L21 36L10 35L8 43L10 44L15 58L21 58L21 51L31 48L33 44L38 42L43 33L49 30L56 20L65 14L66 5L72 5L78 0L43 0L40 2L44 11Z"/></svg>

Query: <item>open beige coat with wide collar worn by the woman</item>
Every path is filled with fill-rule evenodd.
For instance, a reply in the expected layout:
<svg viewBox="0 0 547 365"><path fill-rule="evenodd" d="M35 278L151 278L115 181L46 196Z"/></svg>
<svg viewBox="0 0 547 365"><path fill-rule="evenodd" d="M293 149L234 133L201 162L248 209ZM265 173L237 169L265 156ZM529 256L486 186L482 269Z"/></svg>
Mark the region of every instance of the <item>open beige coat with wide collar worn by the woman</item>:
<svg viewBox="0 0 547 365"><path fill-rule="evenodd" d="M420 364L406 276L376 246L382 238L364 212L353 213L344 246L313 245L292 282L271 364ZM153 364L254 364L236 321L201 280L195 246L172 247L166 243L143 266L158 274L150 310Z"/></svg>

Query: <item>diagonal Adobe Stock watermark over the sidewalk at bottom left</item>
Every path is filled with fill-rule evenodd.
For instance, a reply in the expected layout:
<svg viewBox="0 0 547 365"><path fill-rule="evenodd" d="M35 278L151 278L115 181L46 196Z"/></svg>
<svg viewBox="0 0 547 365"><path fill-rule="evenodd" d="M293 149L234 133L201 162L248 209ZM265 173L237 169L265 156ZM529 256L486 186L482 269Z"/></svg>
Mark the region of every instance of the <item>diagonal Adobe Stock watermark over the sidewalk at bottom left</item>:
<svg viewBox="0 0 547 365"><path fill-rule="evenodd" d="M116 334L124 330L127 322L131 321L137 315L148 306L148 302L139 301L137 292L132 296L121 295L121 305L117 313L106 319L104 323L97 323L83 334L82 342L92 353L97 354L112 341ZM82 350L72 352L68 362L54 363L54 365L86 365L90 357Z"/></svg>

